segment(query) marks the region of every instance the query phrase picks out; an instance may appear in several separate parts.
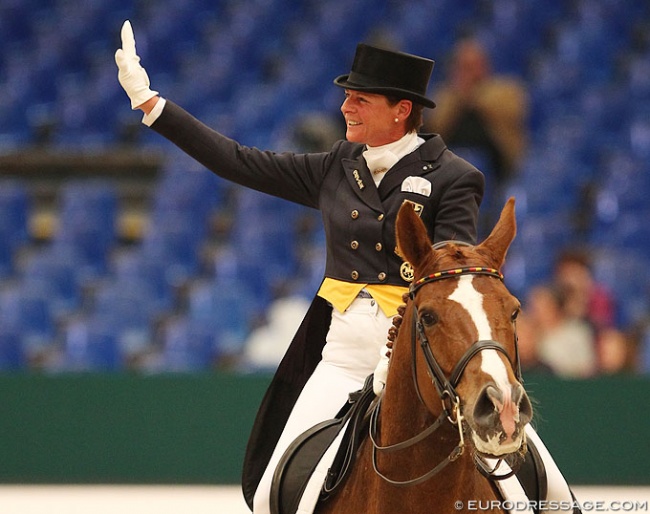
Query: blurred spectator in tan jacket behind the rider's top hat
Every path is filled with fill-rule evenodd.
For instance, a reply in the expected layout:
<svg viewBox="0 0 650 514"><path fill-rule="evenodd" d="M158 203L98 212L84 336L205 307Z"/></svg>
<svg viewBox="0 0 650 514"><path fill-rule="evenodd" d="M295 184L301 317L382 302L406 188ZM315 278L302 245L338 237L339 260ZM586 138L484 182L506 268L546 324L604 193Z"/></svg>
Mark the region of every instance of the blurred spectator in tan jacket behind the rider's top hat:
<svg viewBox="0 0 650 514"><path fill-rule="evenodd" d="M450 148L484 154L497 182L512 176L527 147L528 93L519 80L493 74L480 42L454 48L447 82L426 120Z"/></svg>

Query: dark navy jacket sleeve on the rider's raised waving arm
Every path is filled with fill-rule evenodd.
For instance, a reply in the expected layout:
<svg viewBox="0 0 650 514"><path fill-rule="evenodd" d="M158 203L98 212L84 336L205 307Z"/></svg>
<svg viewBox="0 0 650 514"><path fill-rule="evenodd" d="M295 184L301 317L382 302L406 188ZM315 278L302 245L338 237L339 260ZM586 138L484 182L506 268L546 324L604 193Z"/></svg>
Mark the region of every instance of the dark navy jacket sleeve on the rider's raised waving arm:
<svg viewBox="0 0 650 514"><path fill-rule="evenodd" d="M249 148L169 100L151 128L226 180L318 208L320 185L332 153L275 153Z"/></svg>

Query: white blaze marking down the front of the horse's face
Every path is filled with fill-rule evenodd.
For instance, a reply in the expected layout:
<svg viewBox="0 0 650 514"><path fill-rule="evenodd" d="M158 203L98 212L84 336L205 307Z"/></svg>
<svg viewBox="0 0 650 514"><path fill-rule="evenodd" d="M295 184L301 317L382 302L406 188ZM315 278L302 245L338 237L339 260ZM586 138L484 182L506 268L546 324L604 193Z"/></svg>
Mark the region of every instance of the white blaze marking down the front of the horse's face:
<svg viewBox="0 0 650 514"><path fill-rule="evenodd" d="M459 277L458 287L449 295L449 299L460 304L467 311L478 331L479 341L492 339L492 329L487 314L483 308L483 295L472 284L474 275ZM495 384L501 389L506 398L510 397L508 372L496 350L483 350L481 355L481 371L491 375Z"/></svg>

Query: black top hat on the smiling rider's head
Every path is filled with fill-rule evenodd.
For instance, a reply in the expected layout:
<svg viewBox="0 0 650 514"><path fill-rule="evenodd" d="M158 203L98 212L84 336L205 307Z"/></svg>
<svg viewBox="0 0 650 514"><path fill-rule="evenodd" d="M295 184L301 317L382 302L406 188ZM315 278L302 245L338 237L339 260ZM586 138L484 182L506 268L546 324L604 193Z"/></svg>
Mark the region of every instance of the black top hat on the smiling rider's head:
<svg viewBox="0 0 650 514"><path fill-rule="evenodd" d="M354 91L406 98L433 108L436 104L426 97L433 65L431 59L359 43L352 71L335 78L334 83Z"/></svg>

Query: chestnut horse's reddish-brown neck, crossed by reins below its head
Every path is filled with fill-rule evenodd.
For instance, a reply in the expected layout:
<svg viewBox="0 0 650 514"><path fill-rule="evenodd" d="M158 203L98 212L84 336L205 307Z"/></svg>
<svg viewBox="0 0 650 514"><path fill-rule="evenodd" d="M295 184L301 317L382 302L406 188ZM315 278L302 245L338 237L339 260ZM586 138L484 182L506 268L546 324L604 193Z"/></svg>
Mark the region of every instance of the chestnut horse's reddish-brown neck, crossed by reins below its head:
<svg viewBox="0 0 650 514"><path fill-rule="evenodd" d="M408 309L407 309L408 310ZM439 412L431 412L420 401L416 392L412 371L412 343L410 340L410 315L405 315L400 333L393 345L393 354L386 389L381 400L379 411L377 443L380 446L390 446L409 441L431 427L439 417ZM419 350L419 346L416 347ZM427 394L437 395L434 385ZM424 393L424 391L423 391ZM442 403L440 403L442 410ZM424 439L391 452L376 452L378 469L392 480L409 482L426 477L439 464L441 471L418 485L395 487L387 484L377 474L366 476L359 485L367 494L372 490L372 496L380 507L378 510L366 512L393 513L404 511L405 505L422 505L427 510L412 510L411 512L429 512L431 498L441 510L438 512L453 512L453 502L459 499L469 499L476 496L474 477L476 470L467 449L455 461L448 459L459 444L458 429L444 418L440 426ZM366 455L367 458L369 458ZM447 462L447 464L445 464ZM372 469L370 464L365 468ZM359 471L363 474L364 471ZM372 484L372 485L370 485ZM460 490L463 488L463 490ZM470 496L464 496L468 489Z"/></svg>

